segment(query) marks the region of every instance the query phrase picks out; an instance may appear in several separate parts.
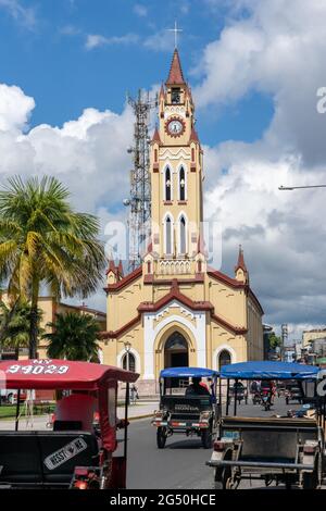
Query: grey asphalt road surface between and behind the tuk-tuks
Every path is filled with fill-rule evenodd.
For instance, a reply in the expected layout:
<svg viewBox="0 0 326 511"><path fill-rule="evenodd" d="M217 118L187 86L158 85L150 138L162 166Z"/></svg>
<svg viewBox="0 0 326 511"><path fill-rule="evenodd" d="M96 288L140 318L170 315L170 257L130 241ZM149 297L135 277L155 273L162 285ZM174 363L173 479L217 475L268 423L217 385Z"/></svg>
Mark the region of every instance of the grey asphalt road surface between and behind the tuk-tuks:
<svg viewBox="0 0 326 511"><path fill-rule="evenodd" d="M285 404L279 399L271 412L261 406L242 404L238 415L268 416L275 413L286 414L298 404ZM158 449L155 428L150 420L135 421L129 426L128 444L128 481L129 489L192 488L212 489L213 470L205 466L211 457L210 449L203 449L198 437L187 438L175 435L167 439L165 449ZM241 488L261 486L260 483L243 482Z"/></svg>

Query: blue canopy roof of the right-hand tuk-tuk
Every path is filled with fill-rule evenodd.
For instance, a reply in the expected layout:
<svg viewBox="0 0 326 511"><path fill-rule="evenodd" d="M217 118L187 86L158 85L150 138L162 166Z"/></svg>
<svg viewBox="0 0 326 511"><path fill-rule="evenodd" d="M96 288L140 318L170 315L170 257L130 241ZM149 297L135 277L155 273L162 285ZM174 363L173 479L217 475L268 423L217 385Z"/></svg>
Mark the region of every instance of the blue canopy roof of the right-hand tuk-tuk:
<svg viewBox="0 0 326 511"><path fill-rule="evenodd" d="M315 379L317 372L315 365L253 361L223 365L220 375L228 379Z"/></svg>

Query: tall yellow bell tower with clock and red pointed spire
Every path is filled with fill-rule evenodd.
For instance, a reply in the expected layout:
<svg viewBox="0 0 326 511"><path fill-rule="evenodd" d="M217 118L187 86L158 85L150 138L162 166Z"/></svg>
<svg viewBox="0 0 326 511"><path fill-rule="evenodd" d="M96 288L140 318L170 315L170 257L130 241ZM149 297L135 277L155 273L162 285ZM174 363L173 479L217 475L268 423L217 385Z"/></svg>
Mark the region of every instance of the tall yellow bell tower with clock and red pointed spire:
<svg viewBox="0 0 326 511"><path fill-rule="evenodd" d="M195 259L202 214L202 149L195 104L178 50L159 95L159 122L151 140L152 252L159 259Z"/></svg>

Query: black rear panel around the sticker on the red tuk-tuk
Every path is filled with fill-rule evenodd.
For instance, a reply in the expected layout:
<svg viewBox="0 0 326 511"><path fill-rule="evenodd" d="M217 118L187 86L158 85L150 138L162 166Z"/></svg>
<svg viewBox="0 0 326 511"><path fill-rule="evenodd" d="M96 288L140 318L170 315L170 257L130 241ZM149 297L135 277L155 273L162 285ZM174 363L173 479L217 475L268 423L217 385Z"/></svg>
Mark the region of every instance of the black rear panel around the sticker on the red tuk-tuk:
<svg viewBox="0 0 326 511"><path fill-rule="evenodd" d="M75 452L58 466L47 466L51 454L67 447L76 439L83 440L84 449ZM85 444L86 447L85 447ZM71 448L72 449L72 448ZM0 484L14 486L68 485L75 466L96 466L99 448L97 438L86 432L1 432L0 433ZM60 460L60 456L57 460Z"/></svg>

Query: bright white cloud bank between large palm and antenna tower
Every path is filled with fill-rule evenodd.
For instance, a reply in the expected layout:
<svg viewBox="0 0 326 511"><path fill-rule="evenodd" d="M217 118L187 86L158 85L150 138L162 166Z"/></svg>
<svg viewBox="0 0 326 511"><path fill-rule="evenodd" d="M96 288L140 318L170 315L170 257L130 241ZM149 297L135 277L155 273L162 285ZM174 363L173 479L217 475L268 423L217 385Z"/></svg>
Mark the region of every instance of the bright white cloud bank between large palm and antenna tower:
<svg viewBox="0 0 326 511"><path fill-rule="evenodd" d="M122 203L128 190L133 113L85 109L62 127L42 124L24 133L35 103L17 87L0 85L0 180L52 174L72 190L80 210Z"/></svg>

